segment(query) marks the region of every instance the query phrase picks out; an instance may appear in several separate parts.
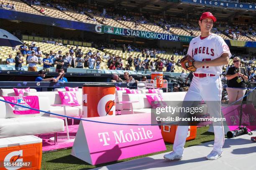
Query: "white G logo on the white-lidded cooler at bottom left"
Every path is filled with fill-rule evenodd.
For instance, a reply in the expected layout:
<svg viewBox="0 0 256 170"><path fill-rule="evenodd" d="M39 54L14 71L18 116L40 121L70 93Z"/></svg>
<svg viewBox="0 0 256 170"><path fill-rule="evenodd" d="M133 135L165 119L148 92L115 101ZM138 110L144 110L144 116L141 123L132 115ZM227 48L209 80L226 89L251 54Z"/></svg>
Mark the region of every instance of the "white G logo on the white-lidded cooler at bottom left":
<svg viewBox="0 0 256 170"><path fill-rule="evenodd" d="M4 160L4 162L5 163L15 163L15 162L19 162L19 165L21 164L22 165L22 163L23 163L23 159L22 158L20 158L20 157L22 157L23 156L23 152L22 152L22 150L18 150L18 151L13 151L13 152L11 152L11 153L9 153L8 155L6 155L5 156L5 160ZM5 166L5 165L4 165ZM22 166L8 166L8 167L6 167L5 166L5 168L7 169L7 170L18 170L18 169L20 169Z"/></svg>

